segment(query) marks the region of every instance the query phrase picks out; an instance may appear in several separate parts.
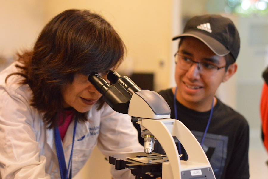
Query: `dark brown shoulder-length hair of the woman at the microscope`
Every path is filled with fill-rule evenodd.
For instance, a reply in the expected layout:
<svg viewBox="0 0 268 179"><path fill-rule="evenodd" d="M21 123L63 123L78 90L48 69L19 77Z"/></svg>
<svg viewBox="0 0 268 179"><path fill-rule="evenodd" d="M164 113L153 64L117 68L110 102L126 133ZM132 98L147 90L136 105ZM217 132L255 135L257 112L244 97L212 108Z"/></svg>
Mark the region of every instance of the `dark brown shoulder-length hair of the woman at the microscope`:
<svg viewBox="0 0 268 179"><path fill-rule="evenodd" d="M101 16L88 10L65 10L41 31L33 50L18 55L16 64L33 96L31 105L44 113L48 128L57 125L63 110L61 89L72 83L77 73L89 75L116 67L123 60L125 45L118 33ZM6 80L7 80L6 78ZM104 103L99 101L100 109ZM76 118L86 121L87 113L75 111Z"/></svg>

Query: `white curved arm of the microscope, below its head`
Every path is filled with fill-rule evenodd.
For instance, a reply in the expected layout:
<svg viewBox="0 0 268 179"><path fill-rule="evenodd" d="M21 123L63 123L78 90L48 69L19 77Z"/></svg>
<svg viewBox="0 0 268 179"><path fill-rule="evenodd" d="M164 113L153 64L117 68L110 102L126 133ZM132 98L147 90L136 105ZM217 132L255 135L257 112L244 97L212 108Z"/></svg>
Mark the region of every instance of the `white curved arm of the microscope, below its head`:
<svg viewBox="0 0 268 179"><path fill-rule="evenodd" d="M169 162L163 163L162 179L181 179L182 175L211 176L214 173L211 170L208 158L202 147L190 130L180 121L174 119L144 119L139 118L137 122L149 130L163 147ZM177 147L172 136L176 136L187 151L188 160L180 160Z"/></svg>

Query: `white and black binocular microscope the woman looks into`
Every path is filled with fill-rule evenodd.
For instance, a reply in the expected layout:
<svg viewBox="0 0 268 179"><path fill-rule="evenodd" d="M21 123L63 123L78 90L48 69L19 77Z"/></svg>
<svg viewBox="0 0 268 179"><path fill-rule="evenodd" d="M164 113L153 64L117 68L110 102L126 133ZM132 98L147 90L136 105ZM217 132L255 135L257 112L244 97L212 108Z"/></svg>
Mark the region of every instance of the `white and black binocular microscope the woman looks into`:
<svg viewBox="0 0 268 179"><path fill-rule="evenodd" d="M130 169L136 179L215 179L199 142L179 120L170 119L170 108L161 95L141 90L130 78L115 71L110 71L107 79L110 83L98 73L88 77L113 110L130 115L131 121L141 126L144 138L144 152L109 157L115 169ZM186 150L187 161L180 160L173 136ZM156 139L166 155L153 152Z"/></svg>

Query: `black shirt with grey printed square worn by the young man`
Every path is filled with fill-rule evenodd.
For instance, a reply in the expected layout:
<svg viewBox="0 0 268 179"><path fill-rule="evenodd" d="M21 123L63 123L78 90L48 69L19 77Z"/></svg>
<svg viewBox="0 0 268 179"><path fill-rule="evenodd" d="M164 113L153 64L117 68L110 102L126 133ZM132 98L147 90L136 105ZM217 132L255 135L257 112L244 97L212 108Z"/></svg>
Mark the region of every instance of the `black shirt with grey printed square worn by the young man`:
<svg viewBox="0 0 268 179"><path fill-rule="evenodd" d="M175 110L172 90L162 90L159 94L169 104L171 118L174 119ZM178 119L201 142L210 111L194 111L183 106L178 101L176 105ZM211 163L216 178L248 179L248 147L249 126L246 119L217 99L203 144L203 149ZM153 152L163 153L159 143L155 144ZM187 158L184 150L182 150L182 153Z"/></svg>

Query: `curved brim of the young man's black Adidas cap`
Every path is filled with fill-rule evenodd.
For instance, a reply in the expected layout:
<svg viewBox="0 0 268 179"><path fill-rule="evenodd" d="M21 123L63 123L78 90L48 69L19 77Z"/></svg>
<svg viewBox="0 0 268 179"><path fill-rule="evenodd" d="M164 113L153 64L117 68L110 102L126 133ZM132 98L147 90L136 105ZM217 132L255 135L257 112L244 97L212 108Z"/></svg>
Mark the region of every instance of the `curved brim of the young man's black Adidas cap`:
<svg viewBox="0 0 268 179"><path fill-rule="evenodd" d="M207 36L203 33L196 32L196 31L188 31L186 33L180 34L172 38L172 40L177 40L178 38L181 38L184 36L191 36L191 37L195 37L199 39L200 41L204 42L204 44L206 44L216 55L225 56L228 53L230 53L230 51L226 49L226 47L222 45L219 41L215 40L214 38L210 36Z"/></svg>

